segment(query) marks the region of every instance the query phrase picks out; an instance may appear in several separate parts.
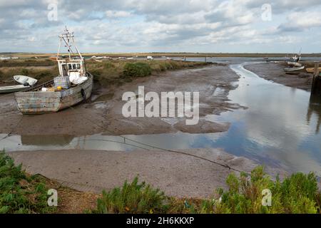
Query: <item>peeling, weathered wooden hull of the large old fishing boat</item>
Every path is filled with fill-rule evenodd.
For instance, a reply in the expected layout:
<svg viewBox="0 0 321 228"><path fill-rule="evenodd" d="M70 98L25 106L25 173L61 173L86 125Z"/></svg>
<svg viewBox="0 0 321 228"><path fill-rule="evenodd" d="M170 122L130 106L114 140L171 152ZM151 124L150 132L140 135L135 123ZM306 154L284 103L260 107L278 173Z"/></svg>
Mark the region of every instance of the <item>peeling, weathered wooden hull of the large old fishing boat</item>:
<svg viewBox="0 0 321 228"><path fill-rule="evenodd" d="M46 114L56 113L59 110L69 108L81 103L91 96L93 89L93 76L87 73L88 80L81 85L56 92L42 92L39 88L44 87L52 81L38 86L34 90L27 90L21 93L14 93L16 106L22 114ZM38 89L38 90L37 90Z"/></svg>

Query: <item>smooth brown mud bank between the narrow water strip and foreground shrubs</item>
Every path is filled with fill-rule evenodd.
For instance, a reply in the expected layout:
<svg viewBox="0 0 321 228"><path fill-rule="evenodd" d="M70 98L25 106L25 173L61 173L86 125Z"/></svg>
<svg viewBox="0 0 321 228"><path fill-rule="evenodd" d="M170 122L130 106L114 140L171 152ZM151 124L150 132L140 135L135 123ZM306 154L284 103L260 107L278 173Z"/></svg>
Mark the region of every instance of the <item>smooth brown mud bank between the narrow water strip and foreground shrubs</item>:
<svg viewBox="0 0 321 228"><path fill-rule="evenodd" d="M235 157L219 149L182 150L208 160L250 172L255 162ZM84 192L101 192L123 185L138 175L165 194L174 197L209 197L218 187L226 187L226 167L196 157L166 151L60 150L9 152L16 164L31 174L40 173L67 187ZM282 170L267 167L273 176ZM238 172L236 172L239 174Z"/></svg>

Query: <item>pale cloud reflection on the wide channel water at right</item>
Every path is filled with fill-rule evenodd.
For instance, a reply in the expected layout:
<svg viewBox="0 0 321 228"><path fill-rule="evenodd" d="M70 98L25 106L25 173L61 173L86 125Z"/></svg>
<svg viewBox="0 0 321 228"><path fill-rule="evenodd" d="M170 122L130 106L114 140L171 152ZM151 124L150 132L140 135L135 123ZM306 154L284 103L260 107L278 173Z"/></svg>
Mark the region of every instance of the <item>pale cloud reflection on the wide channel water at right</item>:
<svg viewBox="0 0 321 228"><path fill-rule="evenodd" d="M300 148L302 142L320 140L320 133L315 134L314 128L320 115L311 115L310 125L306 121L310 94L261 78L255 83L252 81L253 74L240 68L234 69L247 76L240 78L240 85L252 83L251 86L240 86L230 93L233 102L245 101L240 104L250 107L240 118L245 123L243 137L271 148L270 151L264 151L266 155L272 155L295 170L319 171L320 163L315 161L315 157L320 156L320 153L313 154L308 148Z"/></svg>

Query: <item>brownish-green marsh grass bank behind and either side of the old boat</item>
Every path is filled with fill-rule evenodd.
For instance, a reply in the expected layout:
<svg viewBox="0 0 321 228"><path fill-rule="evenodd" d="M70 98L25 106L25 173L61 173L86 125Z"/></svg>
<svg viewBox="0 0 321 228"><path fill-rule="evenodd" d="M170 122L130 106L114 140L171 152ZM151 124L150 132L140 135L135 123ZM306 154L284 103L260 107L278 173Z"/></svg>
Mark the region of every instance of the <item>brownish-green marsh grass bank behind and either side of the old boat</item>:
<svg viewBox="0 0 321 228"><path fill-rule="evenodd" d="M184 61L135 61L135 60L108 60L96 62L86 60L87 71L93 74L95 83L100 86L121 86L133 78L149 76L161 71L206 66L209 63ZM55 61L49 59L19 59L0 61L0 83L12 81L15 75L25 75L36 78L39 83L52 80L58 76L58 67ZM6 82L7 83L7 82Z"/></svg>

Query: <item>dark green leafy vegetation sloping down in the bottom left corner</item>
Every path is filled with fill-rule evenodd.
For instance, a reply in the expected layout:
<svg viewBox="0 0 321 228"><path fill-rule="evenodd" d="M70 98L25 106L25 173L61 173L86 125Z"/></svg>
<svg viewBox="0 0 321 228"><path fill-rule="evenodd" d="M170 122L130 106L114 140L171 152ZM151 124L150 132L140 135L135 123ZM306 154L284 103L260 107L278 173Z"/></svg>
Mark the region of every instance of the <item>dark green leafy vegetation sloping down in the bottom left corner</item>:
<svg viewBox="0 0 321 228"><path fill-rule="evenodd" d="M0 153L0 213L49 213L47 190L41 177L26 175L21 165Z"/></svg>

